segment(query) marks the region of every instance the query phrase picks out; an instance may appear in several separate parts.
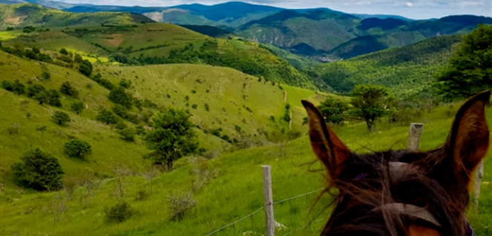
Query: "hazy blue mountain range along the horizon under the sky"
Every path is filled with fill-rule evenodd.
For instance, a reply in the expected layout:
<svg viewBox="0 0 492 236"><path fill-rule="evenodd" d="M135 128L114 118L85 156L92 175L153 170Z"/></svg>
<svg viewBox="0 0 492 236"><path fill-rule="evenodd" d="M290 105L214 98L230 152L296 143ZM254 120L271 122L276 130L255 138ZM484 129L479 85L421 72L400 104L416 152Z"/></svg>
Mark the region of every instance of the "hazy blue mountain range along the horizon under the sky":
<svg viewBox="0 0 492 236"><path fill-rule="evenodd" d="M140 7L47 0L0 1L37 3L68 12L130 12L145 15L156 22L214 26L248 40L272 44L291 53L324 61L403 47L439 35L469 33L477 24L492 24L492 18L475 15L413 20L396 15L348 14L328 8L292 10L243 2L213 6Z"/></svg>

